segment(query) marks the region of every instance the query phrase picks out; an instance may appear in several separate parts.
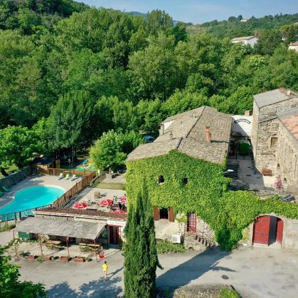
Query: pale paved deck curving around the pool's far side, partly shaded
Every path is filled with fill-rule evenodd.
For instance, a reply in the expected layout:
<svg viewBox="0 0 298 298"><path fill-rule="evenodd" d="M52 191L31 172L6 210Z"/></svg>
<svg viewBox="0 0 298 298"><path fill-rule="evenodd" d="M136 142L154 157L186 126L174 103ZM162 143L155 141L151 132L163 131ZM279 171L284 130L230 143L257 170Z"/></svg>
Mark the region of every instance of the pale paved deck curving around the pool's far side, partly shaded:
<svg viewBox="0 0 298 298"><path fill-rule="evenodd" d="M47 186L60 186L65 189L65 191L71 189L75 183L79 181L80 178L72 181L71 179L66 180L65 178L60 179L58 176L32 176L32 178L25 178L19 183L13 185L9 192L3 193L0 197L0 208L9 204L13 199L16 192L30 186L37 185L47 185ZM1 209L0 209L1 213Z"/></svg>

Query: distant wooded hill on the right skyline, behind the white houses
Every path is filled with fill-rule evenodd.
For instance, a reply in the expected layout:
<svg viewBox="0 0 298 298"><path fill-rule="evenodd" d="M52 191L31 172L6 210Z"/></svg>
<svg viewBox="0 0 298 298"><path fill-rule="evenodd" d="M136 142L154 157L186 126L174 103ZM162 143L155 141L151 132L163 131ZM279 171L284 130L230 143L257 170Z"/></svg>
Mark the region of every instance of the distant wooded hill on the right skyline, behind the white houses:
<svg viewBox="0 0 298 298"><path fill-rule="evenodd" d="M239 36L253 35L262 29L279 29L284 25L298 22L298 13L295 14L276 14L265 15L264 17L251 17L246 22L241 22L242 16L230 16L227 20L214 20L203 24L190 25L186 31L190 34L209 33L218 38L234 38Z"/></svg>

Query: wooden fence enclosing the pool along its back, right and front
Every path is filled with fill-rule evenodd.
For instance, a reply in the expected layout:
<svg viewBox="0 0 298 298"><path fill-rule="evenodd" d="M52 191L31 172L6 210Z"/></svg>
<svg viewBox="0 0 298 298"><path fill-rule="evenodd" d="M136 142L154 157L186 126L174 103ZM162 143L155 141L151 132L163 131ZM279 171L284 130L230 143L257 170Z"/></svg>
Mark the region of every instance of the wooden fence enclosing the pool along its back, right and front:
<svg viewBox="0 0 298 298"><path fill-rule="evenodd" d="M28 216L34 216L33 211L54 206L54 207L61 207L68 203L70 199L80 192L82 189L84 189L88 184L91 184L97 177L95 171L78 171L78 170L64 170L64 169L48 169L49 175L60 175L60 173L63 174L75 174L77 176L82 176L82 180L77 182L71 189L69 189L66 193L64 193L60 198L58 198L56 201L54 201L50 205L40 206L36 208L31 208L23 211L18 212L12 212L8 214L0 214L0 228L6 225L12 225L16 224L16 221L20 220L22 217L28 217ZM1 212L1 211L0 211Z"/></svg>

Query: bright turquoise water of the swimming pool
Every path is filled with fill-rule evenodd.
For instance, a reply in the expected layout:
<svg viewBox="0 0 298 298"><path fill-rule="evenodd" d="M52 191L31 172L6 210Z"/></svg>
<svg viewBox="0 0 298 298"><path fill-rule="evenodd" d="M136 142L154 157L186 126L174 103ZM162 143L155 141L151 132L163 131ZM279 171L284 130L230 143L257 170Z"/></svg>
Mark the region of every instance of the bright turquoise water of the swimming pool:
<svg viewBox="0 0 298 298"><path fill-rule="evenodd" d="M0 215L27 210L53 203L65 190L56 186L32 186L15 193L8 205L0 208Z"/></svg>

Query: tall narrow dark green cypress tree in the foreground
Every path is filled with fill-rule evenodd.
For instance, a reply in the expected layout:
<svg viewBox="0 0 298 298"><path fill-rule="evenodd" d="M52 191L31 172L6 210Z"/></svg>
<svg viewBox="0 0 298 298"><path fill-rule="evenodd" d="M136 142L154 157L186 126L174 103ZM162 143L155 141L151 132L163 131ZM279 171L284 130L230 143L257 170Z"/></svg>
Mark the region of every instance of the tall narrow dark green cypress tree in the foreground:
<svg viewBox="0 0 298 298"><path fill-rule="evenodd" d="M137 205L130 205L125 227L124 286L126 298L153 298L158 262L152 205L143 183Z"/></svg>

